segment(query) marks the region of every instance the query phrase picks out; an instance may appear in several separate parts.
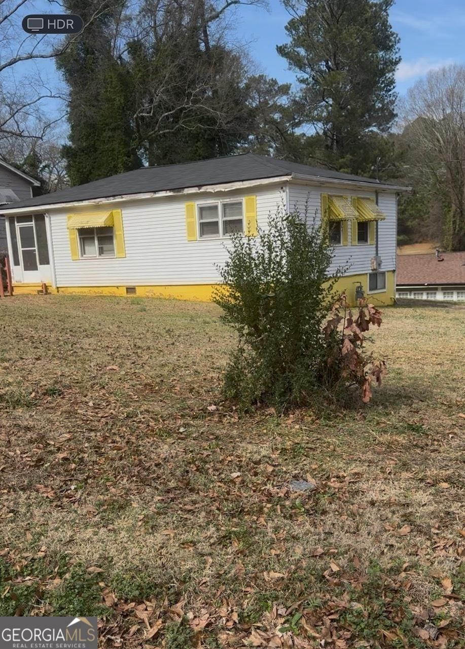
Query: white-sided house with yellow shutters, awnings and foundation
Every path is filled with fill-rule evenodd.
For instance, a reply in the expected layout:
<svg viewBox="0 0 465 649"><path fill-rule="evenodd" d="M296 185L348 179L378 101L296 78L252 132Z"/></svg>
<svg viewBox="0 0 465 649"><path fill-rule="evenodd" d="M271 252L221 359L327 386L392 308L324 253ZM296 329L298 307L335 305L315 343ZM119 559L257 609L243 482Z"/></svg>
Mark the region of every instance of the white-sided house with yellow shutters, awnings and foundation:
<svg viewBox="0 0 465 649"><path fill-rule="evenodd" d="M14 290L208 300L232 232L307 205L330 221L333 269L350 264L340 289L390 304L406 189L251 153L144 167L4 209Z"/></svg>

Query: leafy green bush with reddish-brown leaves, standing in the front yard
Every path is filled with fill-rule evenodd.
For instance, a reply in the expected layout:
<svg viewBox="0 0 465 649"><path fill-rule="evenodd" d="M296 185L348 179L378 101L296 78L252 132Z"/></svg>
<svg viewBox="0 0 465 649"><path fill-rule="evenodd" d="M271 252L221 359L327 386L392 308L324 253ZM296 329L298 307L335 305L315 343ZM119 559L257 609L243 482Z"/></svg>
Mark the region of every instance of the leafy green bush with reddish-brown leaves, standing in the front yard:
<svg viewBox="0 0 465 649"><path fill-rule="evenodd" d="M278 210L258 235L232 236L229 258L218 267L223 284L213 299L239 334L225 396L242 410L268 404L283 411L337 397L349 385L369 386L375 366L361 354L362 332L381 317L368 305L355 321L339 314L344 299L336 299L334 285L344 269L328 275L333 249L325 225Z"/></svg>

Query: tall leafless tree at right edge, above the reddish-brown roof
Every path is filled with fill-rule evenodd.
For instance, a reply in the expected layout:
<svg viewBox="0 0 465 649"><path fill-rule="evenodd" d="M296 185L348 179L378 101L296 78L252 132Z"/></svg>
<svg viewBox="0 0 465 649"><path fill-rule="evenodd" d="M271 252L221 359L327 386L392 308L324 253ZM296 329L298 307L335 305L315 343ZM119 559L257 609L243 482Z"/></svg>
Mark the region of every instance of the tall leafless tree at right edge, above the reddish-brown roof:
<svg viewBox="0 0 465 649"><path fill-rule="evenodd" d="M447 250L465 249L465 66L428 73L408 91L405 134L414 150L413 171L446 195L442 219Z"/></svg>

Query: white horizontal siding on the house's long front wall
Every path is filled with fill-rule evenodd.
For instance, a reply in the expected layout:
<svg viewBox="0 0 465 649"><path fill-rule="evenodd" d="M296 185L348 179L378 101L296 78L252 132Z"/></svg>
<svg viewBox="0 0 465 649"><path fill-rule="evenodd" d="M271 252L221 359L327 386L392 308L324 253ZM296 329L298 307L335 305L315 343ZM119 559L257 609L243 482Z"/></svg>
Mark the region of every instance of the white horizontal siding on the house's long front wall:
<svg viewBox="0 0 465 649"><path fill-rule="evenodd" d="M79 214L75 207L50 210L57 286L173 286L177 284L213 284L220 280L215 264L227 259L228 238L199 238L188 241L185 203L197 205L215 201L242 201L257 196L257 221L266 227L268 214L283 205L281 186L245 188L160 197L146 201L128 201L120 206L126 247L125 258L87 258L85 263L71 261L66 216ZM87 207L87 210L89 208ZM108 209L111 209L108 208ZM231 213L230 213L231 214Z"/></svg>

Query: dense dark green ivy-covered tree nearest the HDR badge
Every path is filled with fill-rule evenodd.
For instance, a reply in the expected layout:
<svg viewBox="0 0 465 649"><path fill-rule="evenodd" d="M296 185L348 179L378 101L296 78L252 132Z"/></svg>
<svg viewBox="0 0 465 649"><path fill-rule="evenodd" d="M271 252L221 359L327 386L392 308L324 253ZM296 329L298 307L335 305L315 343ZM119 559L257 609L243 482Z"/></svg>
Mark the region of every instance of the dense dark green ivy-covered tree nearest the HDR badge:
<svg viewBox="0 0 465 649"><path fill-rule="evenodd" d="M114 19L123 0L66 0L79 14L84 29L64 55L58 69L69 86L69 145L64 147L71 185L105 178L140 167L131 123L131 75L112 47Z"/></svg>

